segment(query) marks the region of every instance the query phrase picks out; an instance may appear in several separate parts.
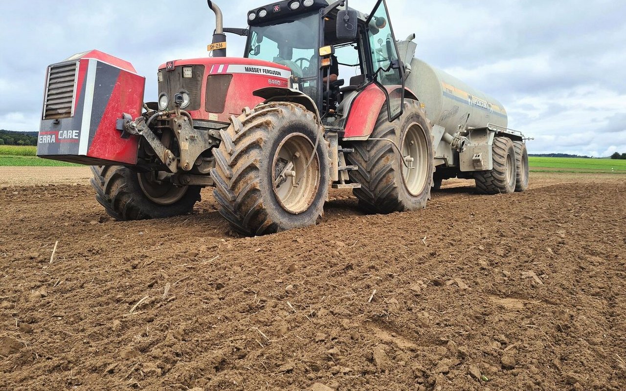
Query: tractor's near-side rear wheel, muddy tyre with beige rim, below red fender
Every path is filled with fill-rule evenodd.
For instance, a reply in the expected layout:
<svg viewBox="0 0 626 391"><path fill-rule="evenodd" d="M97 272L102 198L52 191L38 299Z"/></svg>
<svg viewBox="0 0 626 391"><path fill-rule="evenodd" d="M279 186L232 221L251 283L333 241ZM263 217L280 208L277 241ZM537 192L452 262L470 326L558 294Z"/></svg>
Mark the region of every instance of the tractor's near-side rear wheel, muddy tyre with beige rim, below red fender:
<svg viewBox="0 0 626 391"><path fill-rule="evenodd" d="M433 186L433 142L428 121L416 101L407 99L404 113L389 123L381 109L371 138L386 140L354 142L347 156L357 170L349 171L361 188L353 193L367 213L391 213L426 207ZM408 168L406 165L412 166Z"/></svg>

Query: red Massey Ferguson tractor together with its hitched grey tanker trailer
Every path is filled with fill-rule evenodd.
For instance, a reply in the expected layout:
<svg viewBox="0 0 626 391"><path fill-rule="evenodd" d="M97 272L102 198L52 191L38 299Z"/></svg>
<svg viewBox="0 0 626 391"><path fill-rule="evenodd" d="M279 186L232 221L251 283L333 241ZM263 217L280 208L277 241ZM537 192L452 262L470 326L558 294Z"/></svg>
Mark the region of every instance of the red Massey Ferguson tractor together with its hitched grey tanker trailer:
<svg viewBox="0 0 626 391"><path fill-rule="evenodd" d="M162 64L156 102L130 63L100 51L48 67L38 155L91 165L117 220L189 213L212 186L234 231L263 235L315 224L331 187L391 213L424 208L448 178L485 194L528 186L525 138L503 106L414 58L384 0L369 14L279 1L250 11L247 29L223 28L208 6L212 56ZM242 58L226 56L225 33L247 38Z"/></svg>

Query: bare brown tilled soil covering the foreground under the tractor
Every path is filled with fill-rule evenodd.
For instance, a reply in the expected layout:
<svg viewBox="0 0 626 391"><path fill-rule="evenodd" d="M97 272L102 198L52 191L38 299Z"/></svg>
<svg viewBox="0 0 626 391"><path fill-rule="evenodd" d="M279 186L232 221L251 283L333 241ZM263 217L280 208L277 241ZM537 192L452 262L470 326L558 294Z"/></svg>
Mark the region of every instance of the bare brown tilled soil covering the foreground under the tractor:
<svg viewBox="0 0 626 391"><path fill-rule="evenodd" d="M118 222L45 178L0 188L0 389L625 389L622 176L446 181L386 216L339 191L260 238L229 236L208 190Z"/></svg>

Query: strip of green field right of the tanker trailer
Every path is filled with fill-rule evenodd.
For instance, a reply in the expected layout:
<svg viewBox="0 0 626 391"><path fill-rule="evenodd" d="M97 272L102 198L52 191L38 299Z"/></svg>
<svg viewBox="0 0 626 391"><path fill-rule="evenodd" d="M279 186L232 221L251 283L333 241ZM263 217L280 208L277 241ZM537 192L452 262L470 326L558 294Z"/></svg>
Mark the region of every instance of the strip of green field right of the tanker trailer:
<svg viewBox="0 0 626 391"><path fill-rule="evenodd" d="M626 174L626 160L528 157L530 171Z"/></svg>

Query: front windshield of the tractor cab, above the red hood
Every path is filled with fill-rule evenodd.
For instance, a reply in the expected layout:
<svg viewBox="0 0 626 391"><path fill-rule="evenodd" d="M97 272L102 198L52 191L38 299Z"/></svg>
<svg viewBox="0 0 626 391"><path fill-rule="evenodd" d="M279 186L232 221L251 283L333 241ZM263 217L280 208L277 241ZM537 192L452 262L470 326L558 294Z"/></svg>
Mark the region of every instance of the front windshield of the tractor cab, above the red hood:
<svg viewBox="0 0 626 391"><path fill-rule="evenodd" d="M311 13L250 27L245 57L288 66L300 78L302 92L317 102L320 21Z"/></svg>

